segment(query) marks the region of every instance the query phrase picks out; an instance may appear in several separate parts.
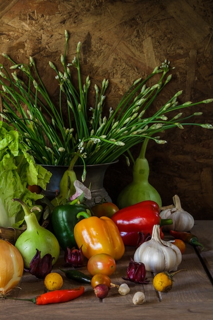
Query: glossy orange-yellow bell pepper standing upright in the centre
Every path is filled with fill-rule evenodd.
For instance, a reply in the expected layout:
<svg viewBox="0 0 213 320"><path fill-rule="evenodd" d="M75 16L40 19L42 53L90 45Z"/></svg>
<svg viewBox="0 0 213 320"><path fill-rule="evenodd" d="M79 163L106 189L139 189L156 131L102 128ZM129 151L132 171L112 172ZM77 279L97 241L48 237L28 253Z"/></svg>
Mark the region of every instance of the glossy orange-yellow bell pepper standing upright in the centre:
<svg viewBox="0 0 213 320"><path fill-rule="evenodd" d="M119 229L108 217L91 216L80 220L74 227L74 237L83 255L89 259L93 255L108 254L119 260L124 255L125 246Z"/></svg>

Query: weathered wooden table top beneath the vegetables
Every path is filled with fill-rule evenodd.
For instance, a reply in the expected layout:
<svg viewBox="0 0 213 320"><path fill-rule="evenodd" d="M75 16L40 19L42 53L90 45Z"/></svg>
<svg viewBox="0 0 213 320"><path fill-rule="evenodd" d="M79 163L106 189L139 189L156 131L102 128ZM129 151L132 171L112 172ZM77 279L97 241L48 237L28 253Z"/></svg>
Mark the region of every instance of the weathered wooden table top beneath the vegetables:
<svg viewBox="0 0 213 320"><path fill-rule="evenodd" d="M127 283L130 287L128 295L120 295L116 288L111 288L107 298L102 302L94 295L90 285L84 285L85 292L80 298L61 304L37 306L31 302L0 300L1 317L4 319L28 320L37 318L51 319L212 319L213 318L213 220L197 220L192 233L205 248L201 252L186 244L186 251L178 269L187 271L177 273L173 288L167 293L155 291L152 285L153 275L147 272L149 284L136 285L124 281L130 258L133 258L134 248L126 247L124 257L116 262L116 271L110 277L114 284ZM167 237L167 236L166 236ZM170 238L172 239L172 238ZM64 279L63 289L78 287L81 284L69 280L58 269L63 264L63 253L54 265L53 271L61 273ZM85 266L80 269L88 274ZM135 306L132 303L136 291L143 291L146 302ZM34 298L44 292L43 280L24 273L19 288L11 296L17 298Z"/></svg>

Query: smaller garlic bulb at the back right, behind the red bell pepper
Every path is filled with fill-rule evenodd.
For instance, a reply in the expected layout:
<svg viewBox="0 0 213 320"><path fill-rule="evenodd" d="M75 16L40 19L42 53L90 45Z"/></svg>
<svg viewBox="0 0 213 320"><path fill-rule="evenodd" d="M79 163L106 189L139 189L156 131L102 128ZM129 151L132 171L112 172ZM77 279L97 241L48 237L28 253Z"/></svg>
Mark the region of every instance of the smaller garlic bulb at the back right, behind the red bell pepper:
<svg viewBox="0 0 213 320"><path fill-rule="evenodd" d="M172 219L173 222L172 224L164 225L163 230L190 231L195 224L193 216L181 208L180 198L177 194L173 197L173 202L174 208L160 212L161 219Z"/></svg>

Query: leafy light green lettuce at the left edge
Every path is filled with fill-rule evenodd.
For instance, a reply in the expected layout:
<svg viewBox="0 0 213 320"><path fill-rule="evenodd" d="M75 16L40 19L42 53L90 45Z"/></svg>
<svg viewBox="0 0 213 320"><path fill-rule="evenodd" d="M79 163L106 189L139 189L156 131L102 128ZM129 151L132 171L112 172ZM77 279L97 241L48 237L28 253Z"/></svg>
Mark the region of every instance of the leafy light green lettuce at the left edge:
<svg viewBox="0 0 213 320"><path fill-rule="evenodd" d="M21 135L7 123L0 121L0 226L17 227L25 213L19 198L30 208L42 194L32 193L28 185L46 189L52 173L37 165Z"/></svg>

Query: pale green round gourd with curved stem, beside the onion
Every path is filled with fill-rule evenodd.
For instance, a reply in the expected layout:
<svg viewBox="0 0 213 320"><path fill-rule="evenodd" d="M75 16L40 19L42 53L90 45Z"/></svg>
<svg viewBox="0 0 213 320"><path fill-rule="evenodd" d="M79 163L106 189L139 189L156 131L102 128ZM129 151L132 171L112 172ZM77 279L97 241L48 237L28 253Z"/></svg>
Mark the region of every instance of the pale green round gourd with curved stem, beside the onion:
<svg viewBox="0 0 213 320"><path fill-rule="evenodd" d="M36 215L30 212L26 203L17 198L13 200L19 201L25 212L27 229L18 237L15 243L15 247L23 258L25 268L29 269L30 262L36 254L36 249L41 252L41 258L46 254L51 254L55 258L53 260L54 264L60 254L58 240L52 232L40 226Z"/></svg>

